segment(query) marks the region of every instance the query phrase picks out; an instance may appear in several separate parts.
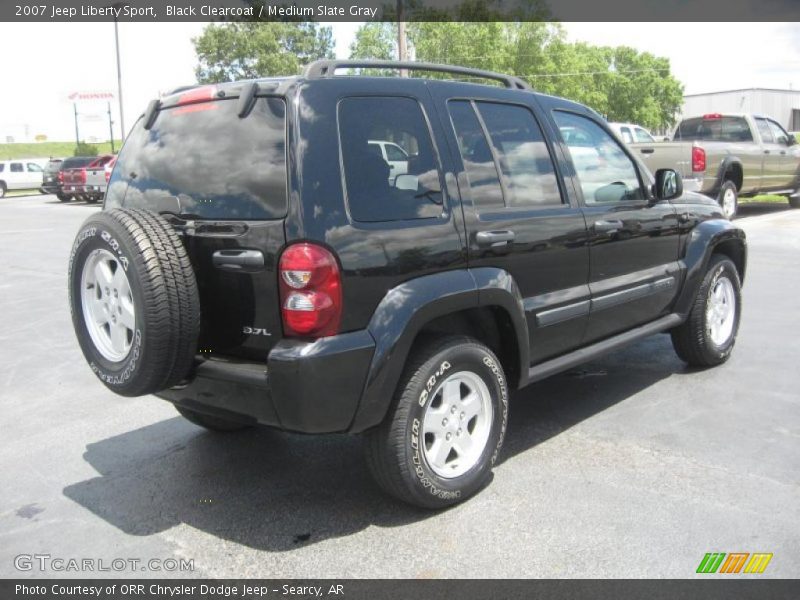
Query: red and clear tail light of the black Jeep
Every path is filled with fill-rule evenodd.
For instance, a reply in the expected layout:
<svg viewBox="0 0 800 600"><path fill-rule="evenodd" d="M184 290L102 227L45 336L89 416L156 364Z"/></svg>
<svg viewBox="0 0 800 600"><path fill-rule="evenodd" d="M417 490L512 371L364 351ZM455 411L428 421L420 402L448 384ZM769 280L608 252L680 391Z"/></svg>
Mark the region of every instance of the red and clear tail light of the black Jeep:
<svg viewBox="0 0 800 600"><path fill-rule="evenodd" d="M315 244L295 244L284 250L278 271L284 335L335 335L342 320L342 280L333 254Z"/></svg>

